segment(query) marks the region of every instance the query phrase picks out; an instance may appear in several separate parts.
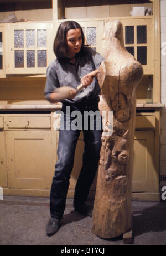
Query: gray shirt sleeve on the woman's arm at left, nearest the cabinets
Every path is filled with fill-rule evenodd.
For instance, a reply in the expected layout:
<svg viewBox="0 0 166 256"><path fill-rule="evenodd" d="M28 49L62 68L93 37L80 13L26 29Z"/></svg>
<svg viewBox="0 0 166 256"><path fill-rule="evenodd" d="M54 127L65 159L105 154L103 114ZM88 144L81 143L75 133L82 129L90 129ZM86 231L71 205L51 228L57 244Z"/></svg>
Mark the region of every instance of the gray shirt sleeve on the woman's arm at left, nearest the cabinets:
<svg viewBox="0 0 166 256"><path fill-rule="evenodd" d="M55 62L51 62L46 70L46 83L44 88L44 95L49 100L50 94L59 88L58 76L56 74Z"/></svg>

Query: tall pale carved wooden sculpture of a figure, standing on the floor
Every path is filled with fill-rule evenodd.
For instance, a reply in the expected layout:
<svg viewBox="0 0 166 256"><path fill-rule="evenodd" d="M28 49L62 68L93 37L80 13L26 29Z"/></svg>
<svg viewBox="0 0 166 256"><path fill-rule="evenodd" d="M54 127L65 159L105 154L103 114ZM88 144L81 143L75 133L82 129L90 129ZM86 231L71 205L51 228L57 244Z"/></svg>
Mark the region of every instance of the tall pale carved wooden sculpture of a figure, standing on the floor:
<svg viewBox="0 0 166 256"><path fill-rule="evenodd" d="M125 48L120 21L106 24L102 48L105 61L98 70L99 109L101 115L103 110L113 111L113 132L102 134L92 232L101 238L115 238L132 225L135 91L143 68Z"/></svg>

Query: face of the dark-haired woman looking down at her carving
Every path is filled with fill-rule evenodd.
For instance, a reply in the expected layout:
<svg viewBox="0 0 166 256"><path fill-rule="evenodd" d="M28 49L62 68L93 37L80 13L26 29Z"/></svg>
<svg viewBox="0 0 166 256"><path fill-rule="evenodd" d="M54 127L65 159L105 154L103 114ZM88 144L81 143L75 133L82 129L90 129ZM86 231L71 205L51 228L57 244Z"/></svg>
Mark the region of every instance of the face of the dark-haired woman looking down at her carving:
<svg viewBox="0 0 166 256"><path fill-rule="evenodd" d="M82 35L80 28L69 29L66 35L67 53L69 58L74 58L79 53L82 45Z"/></svg>

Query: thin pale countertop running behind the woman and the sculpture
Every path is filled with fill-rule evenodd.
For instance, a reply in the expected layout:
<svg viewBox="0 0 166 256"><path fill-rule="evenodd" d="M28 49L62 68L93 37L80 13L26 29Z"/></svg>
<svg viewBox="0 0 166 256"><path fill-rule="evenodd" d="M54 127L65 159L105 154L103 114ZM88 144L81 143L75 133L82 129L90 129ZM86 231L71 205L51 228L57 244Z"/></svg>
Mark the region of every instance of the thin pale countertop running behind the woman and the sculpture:
<svg viewBox="0 0 166 256"><path fill-rule="evenodd" d="M137 104L137 109L160 109L164 107L165 104L163 103L149 103ZM54 110L54 109L61 109L61 104L48 104L48 105L0 105L0 111L8 111L8 110Z"/></svg>

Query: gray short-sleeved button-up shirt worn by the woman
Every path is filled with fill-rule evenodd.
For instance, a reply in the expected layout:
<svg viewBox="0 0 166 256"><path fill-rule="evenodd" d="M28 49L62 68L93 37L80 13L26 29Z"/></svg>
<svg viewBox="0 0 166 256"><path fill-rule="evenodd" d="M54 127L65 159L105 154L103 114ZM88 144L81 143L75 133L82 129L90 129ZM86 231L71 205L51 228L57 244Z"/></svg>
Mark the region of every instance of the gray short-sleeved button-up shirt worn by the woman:
<svg viewBox="0 0 166 256"><path fill-rule="evenodd" d="M98 69L103 57L100 53L97 53L90 47L87 48L86 55L76 57L76 64L72 64L69 61L65 63L59 63L54 60L50 63L46 71L46 84L44 94L46 99L49 99L49 95L61 86L71 86L77 88L81 83L81 77L87 75L91 71ZM77 93L74 99L64 99L62 103L68 102L68 104L74 104L81 102L82 99L94 99L100 94L100 87L98 85L97 77L87 88L82 89Z"/></svg>

